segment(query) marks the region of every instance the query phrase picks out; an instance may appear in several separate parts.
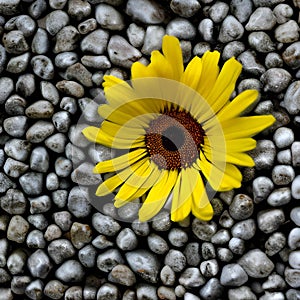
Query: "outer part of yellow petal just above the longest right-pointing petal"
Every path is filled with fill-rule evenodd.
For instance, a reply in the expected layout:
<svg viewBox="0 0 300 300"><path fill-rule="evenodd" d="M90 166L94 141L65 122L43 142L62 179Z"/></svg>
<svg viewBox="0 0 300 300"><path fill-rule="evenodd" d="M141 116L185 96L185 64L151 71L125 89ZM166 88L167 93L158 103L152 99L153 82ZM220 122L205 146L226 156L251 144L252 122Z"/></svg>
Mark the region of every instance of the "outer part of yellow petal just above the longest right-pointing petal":
<svg viewBox="0 0 300 300"><path fill-rule="evenodd" d="M258 91L243 91L218 113L219 120L225 121L240 116L248 107L255 103L257 98Z"/></svg>

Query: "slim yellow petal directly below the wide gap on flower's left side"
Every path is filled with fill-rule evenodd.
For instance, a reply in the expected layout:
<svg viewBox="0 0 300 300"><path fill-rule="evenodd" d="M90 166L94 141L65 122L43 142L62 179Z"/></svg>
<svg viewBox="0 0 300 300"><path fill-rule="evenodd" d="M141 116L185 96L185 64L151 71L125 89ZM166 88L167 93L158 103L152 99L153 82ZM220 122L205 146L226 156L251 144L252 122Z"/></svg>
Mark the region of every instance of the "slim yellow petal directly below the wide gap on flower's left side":
<svg viewBox="0 0 300 300"><path fill-rule="evenodd" d="M95 173L115 172L127 168L147 155L146 149L136 149L116 158L101 161L94 167Z"/></svg>

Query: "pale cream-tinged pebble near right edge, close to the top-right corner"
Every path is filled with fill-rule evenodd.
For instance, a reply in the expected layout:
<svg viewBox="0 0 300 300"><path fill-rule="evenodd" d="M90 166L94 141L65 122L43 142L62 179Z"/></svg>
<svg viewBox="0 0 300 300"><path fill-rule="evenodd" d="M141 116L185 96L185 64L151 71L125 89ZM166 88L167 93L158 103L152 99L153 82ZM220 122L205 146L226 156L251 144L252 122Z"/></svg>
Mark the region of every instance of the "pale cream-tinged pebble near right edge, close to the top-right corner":
<svg viewBox="0 0 300 300"><path fill-rule="evenodd" d="M280 43L292 43L299 40L299 25L290 20L275 29L275 38Z"/></svg>

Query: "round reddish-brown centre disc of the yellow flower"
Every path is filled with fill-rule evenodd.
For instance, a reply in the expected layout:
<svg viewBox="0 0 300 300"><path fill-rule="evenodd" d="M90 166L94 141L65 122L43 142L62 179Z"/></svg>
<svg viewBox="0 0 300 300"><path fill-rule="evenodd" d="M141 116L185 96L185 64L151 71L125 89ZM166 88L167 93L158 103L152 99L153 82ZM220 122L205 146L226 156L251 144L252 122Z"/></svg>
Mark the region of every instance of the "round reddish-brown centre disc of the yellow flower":
<svg viewBox="0 0 300 300"><path fill-rule="evenodd" d="M171 109L150 122L146 147L159 168L187 168L199 157L204 135L203 128L189 112Z"/></svg>

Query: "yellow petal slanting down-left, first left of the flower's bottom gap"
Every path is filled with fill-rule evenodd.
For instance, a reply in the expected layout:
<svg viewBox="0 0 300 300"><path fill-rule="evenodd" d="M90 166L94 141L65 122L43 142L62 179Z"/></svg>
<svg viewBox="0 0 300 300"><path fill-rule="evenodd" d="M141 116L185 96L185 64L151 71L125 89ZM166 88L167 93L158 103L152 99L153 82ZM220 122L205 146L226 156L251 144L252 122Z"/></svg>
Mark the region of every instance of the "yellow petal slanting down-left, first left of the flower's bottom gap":
<svg viewBox="0 0 300 300"><path fill-rule="evenodd" d="M139 211L141 222L150 220L162 209L174 187L177 177L177 171L162 171L161 178L151 188Z"/></svg>

